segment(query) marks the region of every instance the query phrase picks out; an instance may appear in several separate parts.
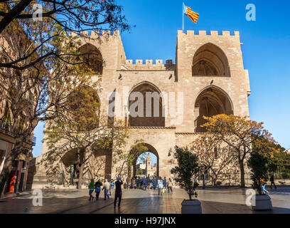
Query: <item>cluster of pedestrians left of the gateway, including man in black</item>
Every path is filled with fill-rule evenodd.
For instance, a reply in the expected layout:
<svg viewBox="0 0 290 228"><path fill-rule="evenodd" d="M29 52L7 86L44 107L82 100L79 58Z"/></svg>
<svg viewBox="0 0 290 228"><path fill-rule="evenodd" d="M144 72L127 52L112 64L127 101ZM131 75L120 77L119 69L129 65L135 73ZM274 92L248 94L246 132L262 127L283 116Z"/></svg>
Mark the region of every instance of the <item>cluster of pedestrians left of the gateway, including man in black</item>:
<svg viewBox="0 0 290 228"><path fill-rule="evenodd" d="M92 193L96 192L96 199L99 199L100 196L100 192L101 192L101 188L102 190L104 190L104 200L109 199L109 195L112 195L112 191L115 189L115 196L114 196L114 207L116 207L117 204L117 200L118 201L118 207L121 207L121 200L122 200L122 185L123 182L121 180L121 177L117 177L117 180L114 181L113 179L110 180L110 182L108 182L107 179L104 180L104 185L102 184L101 180L97 180L97 182L94 182L94 180L92 179L90 184L89 184L89 195L90 195L90 199L92 200L94 199L94 197L92 196Z"/></svg>

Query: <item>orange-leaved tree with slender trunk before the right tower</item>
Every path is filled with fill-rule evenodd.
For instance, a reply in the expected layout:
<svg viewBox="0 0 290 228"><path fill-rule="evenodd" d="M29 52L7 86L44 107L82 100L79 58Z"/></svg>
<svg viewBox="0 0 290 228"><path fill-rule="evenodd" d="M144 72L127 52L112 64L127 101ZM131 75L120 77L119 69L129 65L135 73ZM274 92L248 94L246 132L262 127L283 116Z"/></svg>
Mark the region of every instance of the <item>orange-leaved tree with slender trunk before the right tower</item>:
<svg viewBox="0 0 290 228"><path fill-rule="evenodd" d="M240 185L245 187L245 160L253 144L265 147L264 142L275 142L272 135L264 129L263 123L249 120L247 116L221 114L204 118L207 123L203 127L232 149L232 156L240 166Z"/></svg>

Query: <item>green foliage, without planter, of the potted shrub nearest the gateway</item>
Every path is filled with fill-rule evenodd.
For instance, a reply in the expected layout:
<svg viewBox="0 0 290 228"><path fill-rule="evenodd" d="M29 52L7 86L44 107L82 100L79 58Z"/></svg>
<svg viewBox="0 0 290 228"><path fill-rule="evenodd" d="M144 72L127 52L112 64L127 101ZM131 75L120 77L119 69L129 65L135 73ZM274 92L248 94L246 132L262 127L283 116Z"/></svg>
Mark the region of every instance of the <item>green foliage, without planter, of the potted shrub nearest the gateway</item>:
<svg viewBox="0 0 290 228"><path fill-rule="evenodd" d="M176 175L174 180L183 187L188 193L189 199L198 197L195 188L198 187L198 182L194 182L193 178L198 175L198 157L194 155L188 148L176 146L174 157L178 162L178 166L171 169L171 173Z"/></svg>

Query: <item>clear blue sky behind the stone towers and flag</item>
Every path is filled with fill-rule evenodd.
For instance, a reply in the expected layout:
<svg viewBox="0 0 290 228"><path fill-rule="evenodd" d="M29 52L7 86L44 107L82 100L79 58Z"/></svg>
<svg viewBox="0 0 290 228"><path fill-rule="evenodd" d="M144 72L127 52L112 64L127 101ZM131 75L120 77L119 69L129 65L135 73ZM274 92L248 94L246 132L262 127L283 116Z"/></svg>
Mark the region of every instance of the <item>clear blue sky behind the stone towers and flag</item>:
<svg viewBox="0 0 290 228"><path fill-rule="evenodd" d="M182 2L178 0L126 0L129 24L122 33L128 59L175 60L177 30L182 29ZM252 120L264 122L276 141L290 148L290 1L208 0L184 1L200 14L198 24L185 16L185 30L240 31L245 69L249 70ZM247 21L247 4L254 4L256 21ZM43 123L35 130L33 155L41 155Z"/></svg>

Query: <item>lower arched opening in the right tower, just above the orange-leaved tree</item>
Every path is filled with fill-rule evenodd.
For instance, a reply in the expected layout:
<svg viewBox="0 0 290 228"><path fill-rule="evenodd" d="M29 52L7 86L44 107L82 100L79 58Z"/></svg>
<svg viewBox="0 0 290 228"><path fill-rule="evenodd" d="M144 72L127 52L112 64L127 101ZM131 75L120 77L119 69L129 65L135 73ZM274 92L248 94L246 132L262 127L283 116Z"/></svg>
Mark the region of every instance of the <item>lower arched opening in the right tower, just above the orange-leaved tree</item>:
<svg viewBox="0 0 290 228"><path fill-rule="evenodd" d="M229 96L220 88L210 86L205 88L195 101L195 111L198 112L198 118L195 120L195 132L204 133L205 124L203 116L212 117L213 115L233 114L232 102Z"/></svg>

